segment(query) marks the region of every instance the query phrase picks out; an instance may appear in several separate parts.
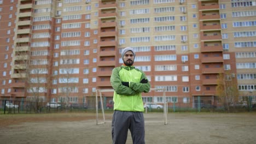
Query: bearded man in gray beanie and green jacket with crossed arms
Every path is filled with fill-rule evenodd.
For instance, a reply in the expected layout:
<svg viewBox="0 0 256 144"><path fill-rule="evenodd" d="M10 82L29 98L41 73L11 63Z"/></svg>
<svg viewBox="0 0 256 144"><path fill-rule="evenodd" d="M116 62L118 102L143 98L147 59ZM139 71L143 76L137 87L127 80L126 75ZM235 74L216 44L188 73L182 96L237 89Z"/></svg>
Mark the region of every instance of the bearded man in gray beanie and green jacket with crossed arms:
<svg viewBox="0 0 256 144"><path fill-rule="evenodd" d="M121 52L124 64L114 68L110 82L114 88L114 114L112 119L113 144L126 142L128 130L133 144L145 143L144 107L142 92L149 92L150 83L142 70L133 67L135 51L126 47Z"/></svg>

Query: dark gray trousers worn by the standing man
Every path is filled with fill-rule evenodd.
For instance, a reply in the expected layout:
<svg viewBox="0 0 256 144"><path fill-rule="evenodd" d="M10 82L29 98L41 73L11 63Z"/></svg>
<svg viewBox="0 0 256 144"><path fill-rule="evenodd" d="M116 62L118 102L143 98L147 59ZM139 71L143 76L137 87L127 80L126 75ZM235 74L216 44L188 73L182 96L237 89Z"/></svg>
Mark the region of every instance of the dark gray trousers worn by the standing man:
<svg viewBox="0 0 256 144"><path fill-rule="evenodd" d="M131 131L133 144L145 143L143 112L115 110L112 119L113 144L125 144L128 130Z"/></svg>

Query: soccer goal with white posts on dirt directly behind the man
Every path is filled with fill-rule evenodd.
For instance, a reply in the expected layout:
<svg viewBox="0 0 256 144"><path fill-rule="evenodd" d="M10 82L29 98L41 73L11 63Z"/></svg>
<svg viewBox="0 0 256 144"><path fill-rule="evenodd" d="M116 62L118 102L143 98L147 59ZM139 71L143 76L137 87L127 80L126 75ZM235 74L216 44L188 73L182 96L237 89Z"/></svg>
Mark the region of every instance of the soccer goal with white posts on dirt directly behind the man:
<svg viewBox="0 0 256 144"><path fill-rule="evenodd" d="M167 103L166 103L166 96L165 96L165 89L164 88L150 88L150 91L156 91L156 92L162 92L162 101L161 103L145 103L145 123L164 123L165 125L167 124ZM105 113L104 113L104 106L103 106L103 98L102 98L102 93L104 92L114 92L114 89L96 89L96 124L104 124L106 122L111 122L106 121ZM100 101L98 101L100 99ZM100 104L100 106L99 106ZM148 112L148 107L147 104L159 104L162 105L160 109L163 109L163 118L159 117L158 115L161 115L159 113L149 113ZM99 112L98 108L101 108L101 113ZM151 108L151 107L149 107ZM159 119L160 118L160 119Z"/></svg>

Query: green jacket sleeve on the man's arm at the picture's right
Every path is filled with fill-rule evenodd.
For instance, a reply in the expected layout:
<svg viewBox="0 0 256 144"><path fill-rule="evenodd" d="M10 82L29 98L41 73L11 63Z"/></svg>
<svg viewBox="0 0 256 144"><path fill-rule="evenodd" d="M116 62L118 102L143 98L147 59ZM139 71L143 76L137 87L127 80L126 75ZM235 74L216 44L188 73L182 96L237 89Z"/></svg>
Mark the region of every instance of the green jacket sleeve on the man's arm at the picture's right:
<svg viewBox="0 0 256 144"><path fill-rule="evenodd" d="M143 71L141 71L142 76L141 76L141 80L142 79L147 79L146 75L143 73ZM130 88L132 88L134 91L139 92L139 93L148 93L150 90L150 83L148 81L148 83L136 83L136 82L130 82Z"/></svg>

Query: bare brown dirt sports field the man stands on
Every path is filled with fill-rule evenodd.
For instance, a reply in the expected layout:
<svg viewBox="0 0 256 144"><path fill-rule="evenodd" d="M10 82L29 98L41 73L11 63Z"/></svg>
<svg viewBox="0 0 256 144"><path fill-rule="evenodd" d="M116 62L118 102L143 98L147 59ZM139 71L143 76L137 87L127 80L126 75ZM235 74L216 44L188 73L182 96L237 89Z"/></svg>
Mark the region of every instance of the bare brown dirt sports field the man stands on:
<svg viewBox="0 0 256 144"><path fill-rule="evenodd" d="M112 143L111 124L95 113L0 115L0 143ZM110 121L112 114L106 116ZM148 113L145 121L163 120ZM168 124L146 123L146 143L255 143L256 113L168 113ZM160 120L158 119L158 120ZM131 136L127 144L132 143Z"/></svg>

